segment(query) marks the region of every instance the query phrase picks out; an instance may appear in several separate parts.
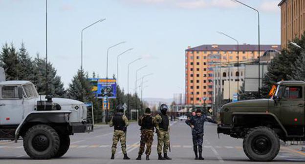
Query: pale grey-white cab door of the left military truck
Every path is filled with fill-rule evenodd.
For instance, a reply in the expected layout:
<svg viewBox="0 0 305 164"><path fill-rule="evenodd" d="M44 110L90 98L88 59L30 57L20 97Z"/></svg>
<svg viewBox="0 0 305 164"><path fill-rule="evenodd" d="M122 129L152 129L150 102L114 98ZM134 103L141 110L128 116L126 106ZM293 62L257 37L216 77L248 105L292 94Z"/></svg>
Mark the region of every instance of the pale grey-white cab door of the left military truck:
<svg viewBox="0 0 305 164"><path fill-rule="evenodd" d="M0 87L0 124L16 125L23 117L23 99L19 98L18 86Z"/></svg>

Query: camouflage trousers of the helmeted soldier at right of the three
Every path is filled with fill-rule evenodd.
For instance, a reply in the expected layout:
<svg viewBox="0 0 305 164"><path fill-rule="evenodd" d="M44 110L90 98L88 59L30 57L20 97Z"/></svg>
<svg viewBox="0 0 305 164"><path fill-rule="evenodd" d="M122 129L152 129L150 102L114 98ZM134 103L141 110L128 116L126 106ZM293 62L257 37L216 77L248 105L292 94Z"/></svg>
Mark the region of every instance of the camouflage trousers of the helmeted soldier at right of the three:
<svg viewBox="0 0 305 164"><path fill-rule="evenodd" d="M158 146L157 146L157 153L162 153L162 146L163 146L163 153L167 153L168 148L170 147L170 132L164 130L158 130Z"/></svg>

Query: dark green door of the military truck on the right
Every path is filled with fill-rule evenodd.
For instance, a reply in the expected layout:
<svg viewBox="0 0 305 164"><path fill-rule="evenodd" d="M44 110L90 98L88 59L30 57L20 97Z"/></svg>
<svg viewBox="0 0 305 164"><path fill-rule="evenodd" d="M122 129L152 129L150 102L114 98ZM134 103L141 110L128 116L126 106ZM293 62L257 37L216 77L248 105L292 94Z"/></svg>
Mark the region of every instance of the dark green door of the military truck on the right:
<svg viewBox="0 0 305 164"><path fill-rule="evenodd" d="M303 136L305 123L305 95L304 86L287 85L283 90L281 100L281 123L286 128L288 135Z"/></svg>

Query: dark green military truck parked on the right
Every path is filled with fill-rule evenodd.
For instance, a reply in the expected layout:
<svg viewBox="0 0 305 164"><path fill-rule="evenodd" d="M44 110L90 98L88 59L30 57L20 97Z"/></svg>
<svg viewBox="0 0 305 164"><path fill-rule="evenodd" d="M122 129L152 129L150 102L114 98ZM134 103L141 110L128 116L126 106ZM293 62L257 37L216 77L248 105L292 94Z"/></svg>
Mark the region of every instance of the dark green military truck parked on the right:
<svg viewBox="0 0 305 164"><path fill-rule="evenodd" d="M272 161L280 140L305 140L305 82L278 82L270 96L227 103L220 111L218 133L243 139L243 150L253 161Z"/></svg>

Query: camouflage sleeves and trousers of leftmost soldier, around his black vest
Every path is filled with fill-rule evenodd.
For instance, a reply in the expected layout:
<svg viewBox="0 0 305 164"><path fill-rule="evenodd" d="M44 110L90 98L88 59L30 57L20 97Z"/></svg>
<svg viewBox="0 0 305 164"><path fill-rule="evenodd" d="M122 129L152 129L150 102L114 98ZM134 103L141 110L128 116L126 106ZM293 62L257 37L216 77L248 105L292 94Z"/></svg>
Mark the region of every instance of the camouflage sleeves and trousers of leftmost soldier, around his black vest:
<svg viewBox="0 0 305 164"><path fill-rule="evenodd" d="M125 115L122 116L122 119L125 123L125 128L129 125L128 119ZM113 123L113 117L110 120L109 123L110 127L114 126L115 123ZM121 142L121 147L122 147L122 152L123 154L126 154L126 130L116 130L114 127L114 132L113 132L113 138L112 138L112 147L111 147L111 153L115 154L116 152L116 145L120 141Z"/></svg>

